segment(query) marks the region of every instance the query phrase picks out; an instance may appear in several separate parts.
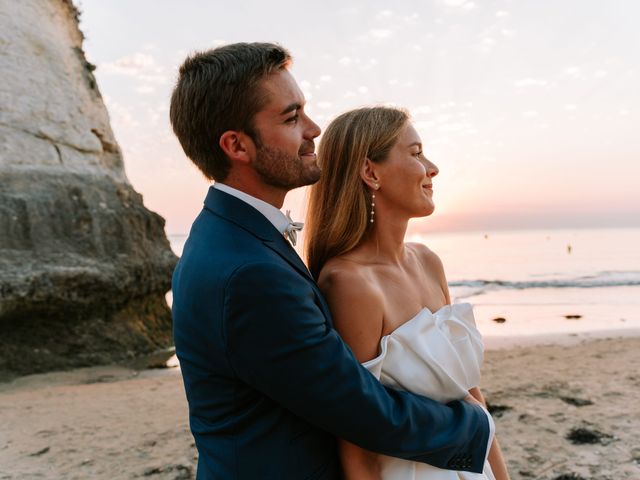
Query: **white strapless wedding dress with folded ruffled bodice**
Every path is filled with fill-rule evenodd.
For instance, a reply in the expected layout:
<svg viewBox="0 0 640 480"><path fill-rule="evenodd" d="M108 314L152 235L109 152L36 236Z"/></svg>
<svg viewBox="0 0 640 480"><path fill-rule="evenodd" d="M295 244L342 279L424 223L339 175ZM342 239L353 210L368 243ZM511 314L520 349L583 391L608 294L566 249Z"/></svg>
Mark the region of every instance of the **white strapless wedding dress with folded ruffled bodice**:
<svg viewBox="0 0 640 480"><path fill-rule="evenodd" d="M439 402L462 399L480 383L482 337L468 303L423 308L380 340L380 355L363 365L384 385ZM424 463L381 456L383 480L495 480L483 473L442 470Z"/></svg>

